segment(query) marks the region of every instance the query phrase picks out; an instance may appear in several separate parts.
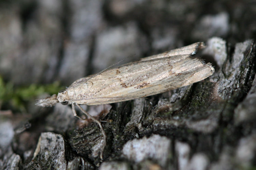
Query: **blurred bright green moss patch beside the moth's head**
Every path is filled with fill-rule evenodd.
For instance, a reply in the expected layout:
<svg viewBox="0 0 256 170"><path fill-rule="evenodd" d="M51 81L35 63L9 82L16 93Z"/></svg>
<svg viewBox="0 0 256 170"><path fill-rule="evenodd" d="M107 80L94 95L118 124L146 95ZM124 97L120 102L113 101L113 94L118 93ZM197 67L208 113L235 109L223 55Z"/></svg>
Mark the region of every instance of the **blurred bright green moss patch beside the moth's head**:
<svg viewBox="0 0 256 170"><path fill-rule="evenodd" d="M48 93L53 95L58 93L63 87L59 82L48 85L31 84L24 87L14 87L10 82L4 83L0 76L0 108L2 105L8 105L20 112L26 112L26 103L41 94Z"/></svg>

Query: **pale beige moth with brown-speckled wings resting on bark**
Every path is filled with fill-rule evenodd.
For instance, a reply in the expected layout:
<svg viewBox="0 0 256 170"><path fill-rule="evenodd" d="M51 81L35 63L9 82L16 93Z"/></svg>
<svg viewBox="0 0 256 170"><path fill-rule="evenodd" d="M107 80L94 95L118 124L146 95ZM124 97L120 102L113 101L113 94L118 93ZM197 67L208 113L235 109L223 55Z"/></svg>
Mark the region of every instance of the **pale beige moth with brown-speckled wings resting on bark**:
<svg viewBox="0 0 256 170"><path fill-rule="evenodd" d="M36 105L53 106L57 102L63 105L71 104L76 117L79 116L76 115L75 106L79 107L99 125L105 146L106 134L100 121L88 114L80 105L108 104L142 98L208 78L214 73L211 63L204 63L203 60L193 56L202 48L204 44L198 42L103 70L76 80L66 90L60 91L58 95L41 99Z"/></svg>

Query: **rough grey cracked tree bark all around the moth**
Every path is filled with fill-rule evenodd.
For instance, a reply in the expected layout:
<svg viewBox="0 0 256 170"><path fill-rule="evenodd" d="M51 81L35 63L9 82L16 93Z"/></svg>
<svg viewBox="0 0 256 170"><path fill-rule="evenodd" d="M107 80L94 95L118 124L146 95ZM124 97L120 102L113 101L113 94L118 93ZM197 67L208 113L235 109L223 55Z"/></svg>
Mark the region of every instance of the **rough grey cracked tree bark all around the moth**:
<svg viewBox="0 0 256 170"><path fill-rule="evenodd" d="M78 120L71 107L39 108L30 99L19 113L0 99L0 169L255 168L255 7L250 0L0 1L0 76L15 87L69 86L127 56L196 41L215 67L211 77L164 94L86 107L105 120L103 159L98 125Z"/></svg>

